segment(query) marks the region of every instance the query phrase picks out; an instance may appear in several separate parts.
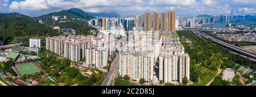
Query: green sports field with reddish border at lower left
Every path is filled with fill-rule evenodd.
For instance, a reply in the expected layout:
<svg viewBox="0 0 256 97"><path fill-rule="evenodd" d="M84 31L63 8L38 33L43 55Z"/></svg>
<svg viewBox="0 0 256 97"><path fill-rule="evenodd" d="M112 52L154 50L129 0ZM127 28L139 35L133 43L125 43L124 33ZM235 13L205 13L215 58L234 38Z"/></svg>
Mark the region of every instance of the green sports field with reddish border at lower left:
<svg viewBox="0 0 256 97"><path fill-rule="evenodd" d="M44 70L34 62L16 64L15 69L18 71L20 77L24 76L24 74L35 74L41 71L44 72Z"/></svg>

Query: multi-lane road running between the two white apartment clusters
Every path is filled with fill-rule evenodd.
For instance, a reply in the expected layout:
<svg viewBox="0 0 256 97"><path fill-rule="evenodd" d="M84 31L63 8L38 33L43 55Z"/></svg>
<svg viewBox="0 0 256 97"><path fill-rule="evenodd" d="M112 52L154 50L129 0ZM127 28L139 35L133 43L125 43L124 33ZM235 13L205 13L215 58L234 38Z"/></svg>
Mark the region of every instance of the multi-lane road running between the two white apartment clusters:
<svg viewBox="0 0 256 97"><path fill-rule="evenodd" d="M119 75L119 54L115 56L115 59L109 67L108 74L101 83L101 86L112 86L114 85L115 78Z"/></svg>

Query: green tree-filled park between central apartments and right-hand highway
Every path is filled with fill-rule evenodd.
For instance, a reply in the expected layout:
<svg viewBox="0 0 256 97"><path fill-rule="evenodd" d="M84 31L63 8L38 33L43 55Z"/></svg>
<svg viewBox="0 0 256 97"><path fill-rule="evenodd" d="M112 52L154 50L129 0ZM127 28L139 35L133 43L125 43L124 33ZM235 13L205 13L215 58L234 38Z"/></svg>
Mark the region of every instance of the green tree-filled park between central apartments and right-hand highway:
<svg viewBox="0 0 256 97"><path fill-rule="evenodd" d="M194 82L193 85L205 86L217 76L219 69L236 69L236 64L256 70L255 62L233 54L209 39L199 38L188 31L178 31L177 34L179 34L180 41L185 47L185 52L189 54L191 60L190 80ZM188 40L192 44L187 43L186 41ZM213 82L221 80L218 76L216 79ZM224 85L226 85L225 82ZM240 83L234 82L232 85L240 85Z"/></svg>

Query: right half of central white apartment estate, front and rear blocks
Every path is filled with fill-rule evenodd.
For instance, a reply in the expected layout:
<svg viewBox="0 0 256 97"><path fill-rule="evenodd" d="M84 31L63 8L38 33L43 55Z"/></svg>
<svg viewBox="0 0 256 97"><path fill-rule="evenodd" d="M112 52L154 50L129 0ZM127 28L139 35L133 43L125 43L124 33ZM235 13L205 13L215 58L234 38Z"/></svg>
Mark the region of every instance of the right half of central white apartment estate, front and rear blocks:
<svg viewBox="0 0 256 97"><path fill-rule="evenodd" d="M164 36L159 55L159 81L164 83L183 83L189 80L189 56L184 52L179 38Z"/></svg>

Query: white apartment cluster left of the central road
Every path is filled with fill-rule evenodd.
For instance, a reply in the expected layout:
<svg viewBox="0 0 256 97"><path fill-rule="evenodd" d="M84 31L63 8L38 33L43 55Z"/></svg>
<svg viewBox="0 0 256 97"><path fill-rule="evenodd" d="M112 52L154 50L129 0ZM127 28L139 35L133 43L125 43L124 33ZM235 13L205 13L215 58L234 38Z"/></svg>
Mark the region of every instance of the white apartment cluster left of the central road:
<svg viewBox="0 0 256 97"><path fill-rule="evenodd" d="M115 53L115 37L113 34L47 37L46 50L73 62L84 59L86 64L106 67L108 56Z"/></svg>

